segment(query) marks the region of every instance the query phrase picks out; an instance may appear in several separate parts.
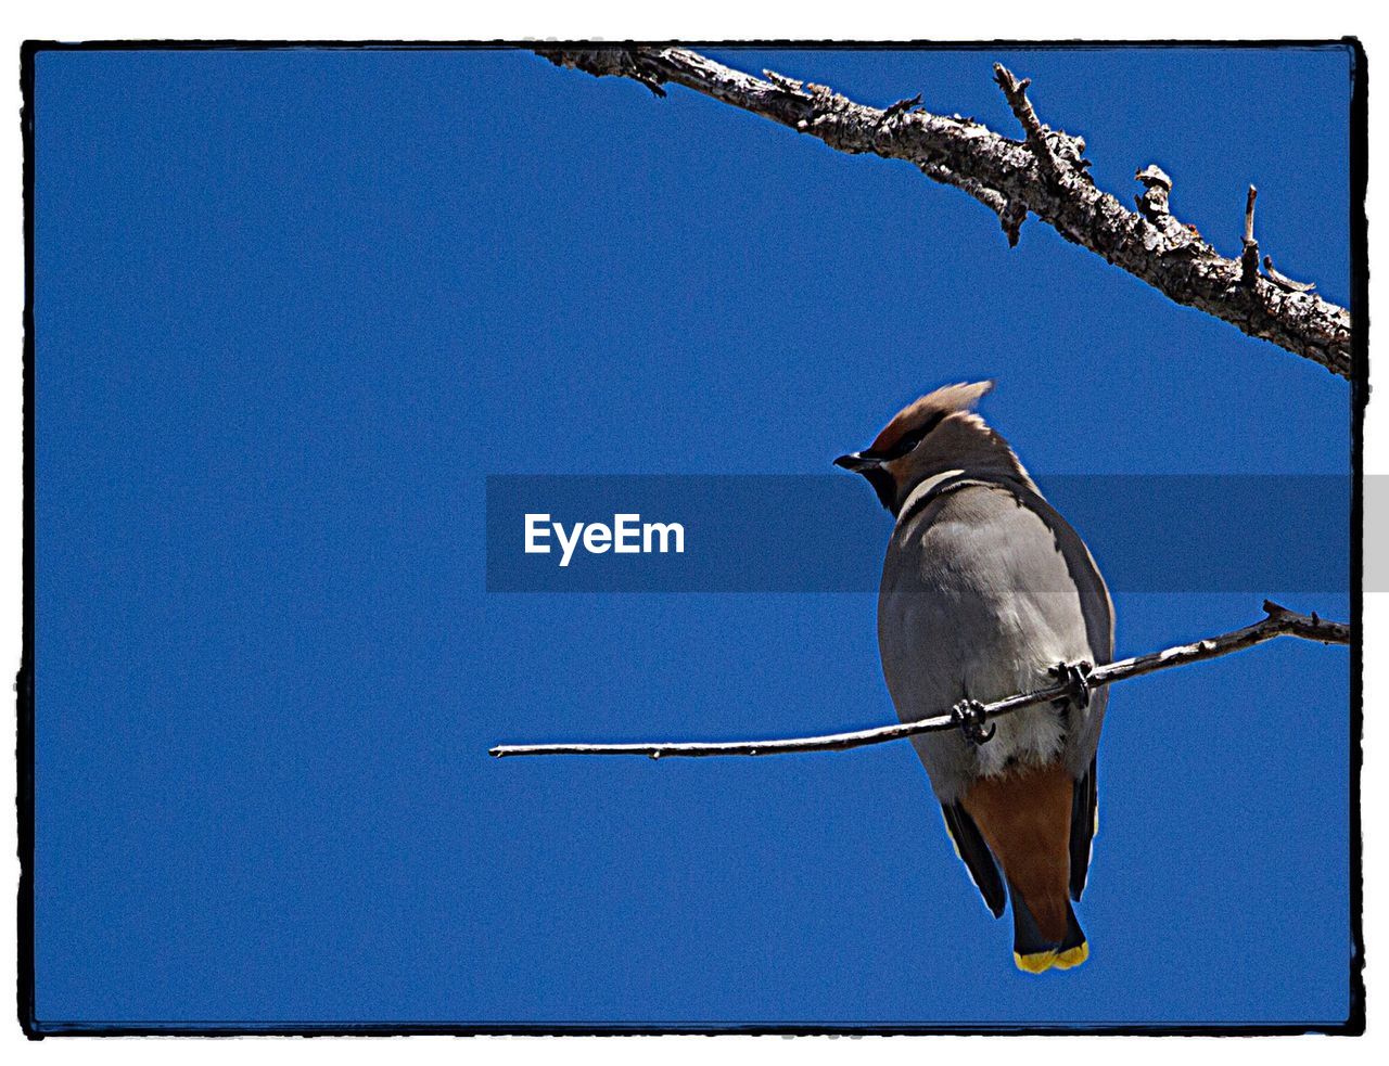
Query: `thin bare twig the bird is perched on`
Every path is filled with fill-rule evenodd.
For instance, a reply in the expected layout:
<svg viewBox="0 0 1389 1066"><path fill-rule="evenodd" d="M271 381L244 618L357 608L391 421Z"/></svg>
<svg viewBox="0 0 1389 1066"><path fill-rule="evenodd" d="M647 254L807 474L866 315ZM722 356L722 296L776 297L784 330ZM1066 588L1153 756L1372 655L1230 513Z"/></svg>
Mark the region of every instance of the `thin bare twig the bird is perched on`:
<svg viewBox="0 0 1389 1066"><path fill-rule="evenodd" d="M1218 637L1199 640L1195 644L1181 644L1165 651L1156 651L1150 655L1138 655L1132 659L1121 659L1104 666L1096 666L1086 677L1089 688L1103 684L1126 682L1131 677L1142 677L1158 670L1170 670L1174 666L1186 666L1204 659L1214 659L1229 655L1232 651L1251 648L1275 637L1301 637L1303 640L1317 640L1322 644L1349 644L1350 626L1343 622L1326 622L1313 615L1299 615L1265 600L1264 611L1267 618L1251 626L1236 629L1232 633L1222 633ZM1074 695L1074 683L1061 682L1047 688L1033 693L1020 693L1006 700L985 704L982 713L985 718L999 718L1010 715L1036 704L1046 704ZM904 722L893 726L878 726L876 729L861 729L854 733L831 733L822 737L796 737L790 740L735 740L718 741L713 744L661 741L654 744L501 744L490 750L499 758L506 755L646 755L653 759L675 756L701 755L786 755L806 751L846 751L861 748L868 744L882 744L889 740L904 740L917 733L935 733L946 729L960 729L964 723L957 713L945 713L920 722Z"/></svg>

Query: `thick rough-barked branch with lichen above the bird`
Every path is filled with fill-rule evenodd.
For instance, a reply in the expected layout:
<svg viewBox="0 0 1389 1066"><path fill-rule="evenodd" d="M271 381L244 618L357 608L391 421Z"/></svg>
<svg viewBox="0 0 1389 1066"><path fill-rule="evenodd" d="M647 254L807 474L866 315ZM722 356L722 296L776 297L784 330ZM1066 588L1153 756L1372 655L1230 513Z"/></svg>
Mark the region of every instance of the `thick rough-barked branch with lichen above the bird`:
<svg viewBox="0 0 1389 1066"><path fill-rule="evenodd" d="M996 211L1010 243L1021 219L1035 214L1067 240L1128 271L1164 296L1220 318L1251 337L1351 376L1350 312L1311 291L1289 289L1256 272L1240 258L1220 255L1195 226L1168 211L1165 189L1126 210L1095 187L1085 172L1085 142L1040 124L1026 99L1026 79L996 68L1025 142L1010 140L958 115L935 115L901 101L886 110L857 104L822 85L767 72L763 81L688 49L538 49L558 67L603 76L632 78L658 94L674 82L704 96L818 137L846 153L906 160L936 182L956 186ZM915 110L913 110L915 108ZM1140 176L1140 180L1142 176Z"/></svg>

